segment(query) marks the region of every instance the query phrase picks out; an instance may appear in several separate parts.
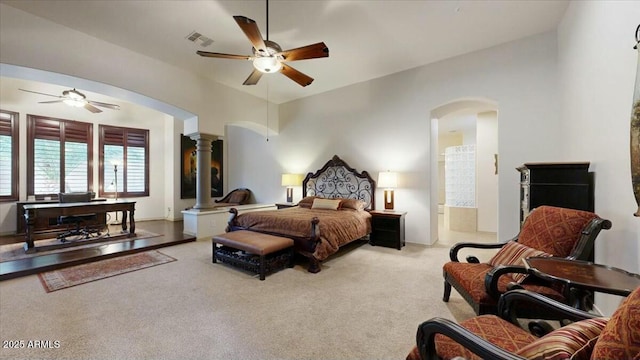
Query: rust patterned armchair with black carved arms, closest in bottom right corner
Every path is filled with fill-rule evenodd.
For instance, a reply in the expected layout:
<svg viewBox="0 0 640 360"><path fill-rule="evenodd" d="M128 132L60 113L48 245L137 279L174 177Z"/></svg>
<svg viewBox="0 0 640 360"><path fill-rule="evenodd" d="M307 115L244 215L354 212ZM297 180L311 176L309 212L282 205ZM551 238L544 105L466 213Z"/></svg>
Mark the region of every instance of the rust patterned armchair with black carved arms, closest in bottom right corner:
<svg viewBox="0 0 640 360"><path fill-rule="evenodd" d="M573 322L538 338L518 325L515 310L523 306ZM480 315L460 324L442 318L422 323L407 360L640 359L640 288L610 319L526 290L505 293L498 309L500 316Z"/></svg>

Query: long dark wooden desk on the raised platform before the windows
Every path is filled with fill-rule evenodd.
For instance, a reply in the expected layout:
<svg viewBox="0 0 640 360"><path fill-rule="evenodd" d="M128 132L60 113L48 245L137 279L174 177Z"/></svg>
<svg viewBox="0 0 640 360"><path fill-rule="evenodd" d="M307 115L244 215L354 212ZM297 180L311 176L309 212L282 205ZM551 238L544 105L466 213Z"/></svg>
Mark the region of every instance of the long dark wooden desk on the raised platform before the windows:
<svg viewBox="0 0 640 360"><path fill-rule="evenodd" d="M34 226L38 218L50 218L58 216L81 215L87 213L103 214L107 212L122 212L122 231L127 230L127 213L129 213L129 237L136 234L136 222L134 220L135 201L90 201L82 203L50 203L24 205L25 245L27 253L36 252L33 242Z"/></svg>

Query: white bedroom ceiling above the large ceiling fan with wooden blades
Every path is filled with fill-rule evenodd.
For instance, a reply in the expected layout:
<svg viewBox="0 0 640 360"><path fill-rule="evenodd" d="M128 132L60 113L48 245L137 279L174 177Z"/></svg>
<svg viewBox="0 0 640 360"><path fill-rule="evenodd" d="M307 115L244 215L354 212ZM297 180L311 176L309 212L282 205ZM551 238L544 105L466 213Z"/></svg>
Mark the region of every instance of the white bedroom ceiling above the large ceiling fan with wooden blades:
<svg viewBox="0 0 640 360"><path fill-rule="evenodd" d="M1 2L274 103L553 30L569 3L271 0L271 40L283 49L320 41L330 49L328 58L292 63L315 79L303 88L282 74L243 86L250 62L202 58L196 55L201 42L185 40L195 30L213 40L206 51L250 55L251 46L233 15L254 19L266 36L264 1Z"/></svg>

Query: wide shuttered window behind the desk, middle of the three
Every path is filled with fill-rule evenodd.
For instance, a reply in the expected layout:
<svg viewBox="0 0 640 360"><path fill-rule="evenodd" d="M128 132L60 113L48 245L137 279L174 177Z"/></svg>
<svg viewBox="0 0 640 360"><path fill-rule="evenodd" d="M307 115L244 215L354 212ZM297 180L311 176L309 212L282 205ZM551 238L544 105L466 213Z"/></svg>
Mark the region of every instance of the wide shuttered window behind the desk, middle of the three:
<svg viewBox="0 0 640 360"><path fill-rule="evenodd" d="M28 195L91 191L93 125L35 115L27 120Z"/></svg>

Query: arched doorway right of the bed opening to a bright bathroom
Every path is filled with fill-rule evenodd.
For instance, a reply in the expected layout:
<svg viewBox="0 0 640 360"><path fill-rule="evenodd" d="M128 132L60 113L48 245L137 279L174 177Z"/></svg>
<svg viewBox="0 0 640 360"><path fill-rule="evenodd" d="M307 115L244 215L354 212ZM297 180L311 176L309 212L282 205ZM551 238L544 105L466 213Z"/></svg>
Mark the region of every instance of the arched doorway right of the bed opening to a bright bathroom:
<svg viewBox="0 0 640 360"><path fill-rule="evenodd" d="M497 241L497 121L489 99L458 99L431 111L430 209L438 215L431 236L441 244Z"/></svg>

